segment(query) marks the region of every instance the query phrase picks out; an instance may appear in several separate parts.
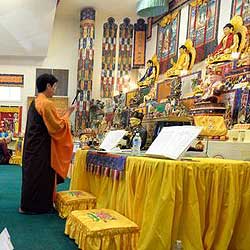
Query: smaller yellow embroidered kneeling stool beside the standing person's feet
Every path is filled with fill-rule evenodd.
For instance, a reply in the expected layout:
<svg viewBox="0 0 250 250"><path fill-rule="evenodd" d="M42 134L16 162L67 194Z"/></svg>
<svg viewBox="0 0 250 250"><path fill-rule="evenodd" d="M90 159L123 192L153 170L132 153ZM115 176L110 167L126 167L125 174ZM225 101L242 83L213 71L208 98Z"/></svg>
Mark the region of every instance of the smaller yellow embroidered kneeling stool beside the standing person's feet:
<svg viewBox="0 0 250 250"><path fill-rule="evenodd" d="M66 218L74 210L95 208L96 197L81 190L62 191L56 194L55 206L59 216Z"/></svg>

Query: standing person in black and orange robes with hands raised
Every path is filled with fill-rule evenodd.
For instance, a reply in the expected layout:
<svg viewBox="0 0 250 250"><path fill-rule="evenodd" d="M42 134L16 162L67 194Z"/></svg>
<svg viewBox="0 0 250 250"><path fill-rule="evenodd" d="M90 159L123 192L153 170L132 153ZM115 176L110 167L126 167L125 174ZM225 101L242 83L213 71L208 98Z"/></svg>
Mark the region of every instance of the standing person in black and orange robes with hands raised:
<svg viewBox="0 0 250 250"><path fill-rule="evenodd" d="M36 80L38 96L29 107L24 137L20 213L53 212L56 184L69 169L73 152L69 116L74 106L58 115L51 100L56 85L53 75L43 74Z"/></svg>

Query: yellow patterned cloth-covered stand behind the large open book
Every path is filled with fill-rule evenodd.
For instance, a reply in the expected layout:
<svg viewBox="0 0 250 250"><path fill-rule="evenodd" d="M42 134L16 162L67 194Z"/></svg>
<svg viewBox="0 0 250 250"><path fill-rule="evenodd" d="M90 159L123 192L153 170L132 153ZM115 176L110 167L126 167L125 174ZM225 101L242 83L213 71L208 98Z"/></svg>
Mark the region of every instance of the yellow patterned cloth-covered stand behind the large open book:
<svg viewBox="0 0 250 250"><path fill-rule="evenodd" d="M203 136L224 136L227 134L227 127L223 116L197 115L194 116L195 126L202 127L200 135Z"/></svg>

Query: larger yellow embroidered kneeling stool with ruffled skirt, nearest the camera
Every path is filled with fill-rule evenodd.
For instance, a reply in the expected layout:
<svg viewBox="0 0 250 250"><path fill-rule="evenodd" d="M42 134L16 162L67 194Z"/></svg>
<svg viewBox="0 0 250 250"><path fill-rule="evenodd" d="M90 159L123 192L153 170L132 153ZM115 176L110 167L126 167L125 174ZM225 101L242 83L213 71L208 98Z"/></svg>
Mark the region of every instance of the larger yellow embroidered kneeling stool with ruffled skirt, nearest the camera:
<svg viewBox="0 0 250 250"><path fill-rule="evenodd" d="M134 250L139 227L112 209L76 210L67 218L65 234L83 250Z"/></svg>

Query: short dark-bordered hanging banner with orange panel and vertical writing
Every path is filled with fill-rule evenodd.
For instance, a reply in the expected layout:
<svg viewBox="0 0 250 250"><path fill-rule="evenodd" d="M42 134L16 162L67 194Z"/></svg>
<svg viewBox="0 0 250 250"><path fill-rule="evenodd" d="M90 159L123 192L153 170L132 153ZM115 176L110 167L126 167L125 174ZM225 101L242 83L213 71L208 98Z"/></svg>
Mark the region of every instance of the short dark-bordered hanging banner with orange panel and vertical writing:
<svg viewBox="0 0 250 250"><path fill-rule="evenodd" d="M147 24L144 19L140 18L134 25L134 53L133 53L133 68L145 66L146 57L146 32Z"/></svg>

